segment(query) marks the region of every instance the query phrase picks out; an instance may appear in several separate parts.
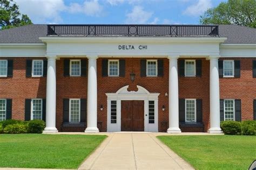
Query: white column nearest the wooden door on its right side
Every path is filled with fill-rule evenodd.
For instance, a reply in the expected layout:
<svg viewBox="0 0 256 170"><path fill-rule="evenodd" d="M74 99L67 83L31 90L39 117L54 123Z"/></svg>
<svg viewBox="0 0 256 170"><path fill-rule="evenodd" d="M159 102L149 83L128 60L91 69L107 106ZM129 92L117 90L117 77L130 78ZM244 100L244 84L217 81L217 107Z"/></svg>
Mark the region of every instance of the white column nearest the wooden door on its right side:
<svg viewBox="0 0 256 170"><path fill-rule="evenodd" d="M167 133L180 133L178 57L169 57L169 128Z"/></svg>

